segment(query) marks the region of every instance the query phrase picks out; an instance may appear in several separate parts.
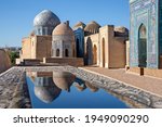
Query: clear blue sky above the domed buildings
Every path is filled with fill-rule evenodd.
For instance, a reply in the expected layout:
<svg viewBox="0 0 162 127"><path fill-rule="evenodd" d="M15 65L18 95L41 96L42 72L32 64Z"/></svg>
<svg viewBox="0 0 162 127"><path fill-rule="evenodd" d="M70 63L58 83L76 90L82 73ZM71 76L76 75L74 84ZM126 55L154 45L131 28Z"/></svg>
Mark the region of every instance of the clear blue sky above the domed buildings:
<svg viewBox="0 0 162 127"><path fill-rule="evenodd" d="M62 22L130 28L129 0L0 0L0 47L21 47L22 38L33 29L35 16L51 10Z"/></svg>

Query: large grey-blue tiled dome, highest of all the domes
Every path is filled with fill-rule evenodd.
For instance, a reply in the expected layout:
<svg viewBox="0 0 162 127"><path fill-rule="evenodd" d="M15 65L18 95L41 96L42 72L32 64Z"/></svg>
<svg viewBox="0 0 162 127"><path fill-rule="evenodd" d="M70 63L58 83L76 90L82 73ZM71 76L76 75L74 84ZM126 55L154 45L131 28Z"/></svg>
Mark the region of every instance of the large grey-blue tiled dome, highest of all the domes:
<svg viewBox="0 0 162 127"><path fill-rule="evenodd" d="M60 23L59 18L50 10L44 10L36 15L33 26L52 26L55 27Z"/></svg>

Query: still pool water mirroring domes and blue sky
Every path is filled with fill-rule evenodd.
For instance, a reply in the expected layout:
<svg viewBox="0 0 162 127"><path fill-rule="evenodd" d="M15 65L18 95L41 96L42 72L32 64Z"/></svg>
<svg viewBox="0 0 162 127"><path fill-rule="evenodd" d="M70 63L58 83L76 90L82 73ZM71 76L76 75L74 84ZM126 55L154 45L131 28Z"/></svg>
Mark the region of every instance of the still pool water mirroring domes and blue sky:
<svg viewBox="0 0 162 127"><path fill-rule="evenodd" d="M68 72L29 72L27 82L32 107L127 107L92 82Z"/></svg>

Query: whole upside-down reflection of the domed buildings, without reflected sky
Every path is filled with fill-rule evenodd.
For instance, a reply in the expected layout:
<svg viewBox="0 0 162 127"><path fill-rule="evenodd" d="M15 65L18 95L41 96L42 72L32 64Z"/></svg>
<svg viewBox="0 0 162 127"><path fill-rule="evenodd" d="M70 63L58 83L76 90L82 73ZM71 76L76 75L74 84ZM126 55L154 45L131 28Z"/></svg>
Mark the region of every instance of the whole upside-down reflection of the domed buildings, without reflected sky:
<svg viewBox="0 0 162 127"><path fill-rule="evenodd" d="M83 91L86 88L93 92L98 90L89 81L84 81L68 72L29 72L27 75L35 85L36 97L45 103L51 103L57 99L62 90L69 92L72 85L79 91Z"/></svg>

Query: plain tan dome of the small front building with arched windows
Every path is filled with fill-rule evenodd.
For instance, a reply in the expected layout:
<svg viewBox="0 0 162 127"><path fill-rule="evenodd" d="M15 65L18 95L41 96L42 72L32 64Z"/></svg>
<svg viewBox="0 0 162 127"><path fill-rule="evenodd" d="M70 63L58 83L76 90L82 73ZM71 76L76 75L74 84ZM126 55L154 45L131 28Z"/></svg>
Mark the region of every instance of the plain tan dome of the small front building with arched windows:
<svg viewBox="0 0 162 127"><path fill-rule="evenodd" d="M68 22L57 25L53 30L53 35L75 36L73 30L70 28Z"/></svg>

